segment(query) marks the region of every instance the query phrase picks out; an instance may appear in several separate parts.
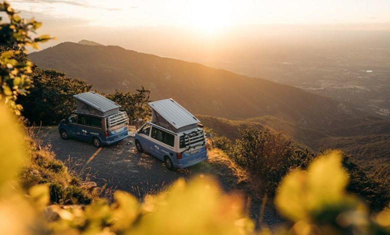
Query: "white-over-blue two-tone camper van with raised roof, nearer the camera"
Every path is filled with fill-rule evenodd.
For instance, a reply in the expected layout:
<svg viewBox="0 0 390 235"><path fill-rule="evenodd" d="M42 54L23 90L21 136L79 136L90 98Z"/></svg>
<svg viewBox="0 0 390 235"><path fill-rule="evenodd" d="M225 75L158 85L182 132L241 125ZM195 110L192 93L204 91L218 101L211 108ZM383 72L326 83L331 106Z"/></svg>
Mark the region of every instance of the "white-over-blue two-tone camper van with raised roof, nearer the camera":
<svg viewBox="0 0 390 235"><path fill-rule="evenodd" d="M200 121L173 99L148 103L152 118L135 132L135 146L163 160L168 169L185 168L207 159Z"/></svg>

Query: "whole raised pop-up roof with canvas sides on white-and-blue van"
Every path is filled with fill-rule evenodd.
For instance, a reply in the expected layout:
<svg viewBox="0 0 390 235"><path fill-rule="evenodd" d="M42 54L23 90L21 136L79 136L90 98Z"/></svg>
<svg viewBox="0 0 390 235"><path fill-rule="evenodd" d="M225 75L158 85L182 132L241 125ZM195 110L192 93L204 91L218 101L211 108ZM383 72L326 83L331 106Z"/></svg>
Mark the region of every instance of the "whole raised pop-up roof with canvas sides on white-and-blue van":
<svg viewBox="0 0 390 235"><path fill-rule="evenodd" d="M194 115L171 98L149 102L148 104L152 109L151 122L175 133L193 129L200 122Z"/></svg>

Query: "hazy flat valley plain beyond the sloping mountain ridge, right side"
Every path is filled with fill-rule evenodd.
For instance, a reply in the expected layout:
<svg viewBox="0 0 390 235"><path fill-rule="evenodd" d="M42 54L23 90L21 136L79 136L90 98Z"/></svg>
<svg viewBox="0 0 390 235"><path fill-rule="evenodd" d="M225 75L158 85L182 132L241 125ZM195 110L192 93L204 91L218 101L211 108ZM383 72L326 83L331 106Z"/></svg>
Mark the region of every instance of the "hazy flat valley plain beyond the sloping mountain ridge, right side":
<svg viewBox="0 0 390 235"><path fill-rule="evenodd" d="M390 32L306 33L282 42L259 40L245 54L228 52L223 58L198 61L293 85L390 118Z"/></svg>

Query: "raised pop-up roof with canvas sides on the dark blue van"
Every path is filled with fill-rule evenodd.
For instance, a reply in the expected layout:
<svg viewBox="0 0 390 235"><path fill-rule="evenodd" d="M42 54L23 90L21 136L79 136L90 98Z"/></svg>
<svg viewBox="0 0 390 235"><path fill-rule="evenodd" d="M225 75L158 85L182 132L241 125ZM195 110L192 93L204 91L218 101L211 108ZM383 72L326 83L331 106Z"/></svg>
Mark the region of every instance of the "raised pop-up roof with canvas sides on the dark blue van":
<svg viewBox="0 0 390 235"><path fill-rule="evenodd" d="M120 105L93 91L75 94L77 112L106 116L119 111Z"/></svg>

